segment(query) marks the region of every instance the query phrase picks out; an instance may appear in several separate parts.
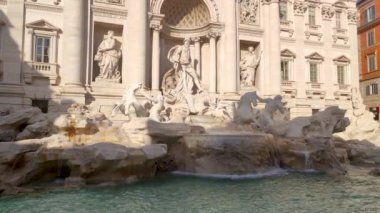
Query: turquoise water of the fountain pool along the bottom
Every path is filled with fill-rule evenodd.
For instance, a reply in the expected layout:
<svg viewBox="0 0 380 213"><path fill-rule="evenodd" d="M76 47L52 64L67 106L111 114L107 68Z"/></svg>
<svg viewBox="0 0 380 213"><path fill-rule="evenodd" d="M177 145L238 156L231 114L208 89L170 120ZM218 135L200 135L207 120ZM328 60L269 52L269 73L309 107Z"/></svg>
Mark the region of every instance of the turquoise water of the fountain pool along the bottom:
<svg viewBox="0 0 380 213"><path fill-rule="evenodd" d="M130 185L2 197L0 212L380 212L380 178L162 175Z"/></svg>

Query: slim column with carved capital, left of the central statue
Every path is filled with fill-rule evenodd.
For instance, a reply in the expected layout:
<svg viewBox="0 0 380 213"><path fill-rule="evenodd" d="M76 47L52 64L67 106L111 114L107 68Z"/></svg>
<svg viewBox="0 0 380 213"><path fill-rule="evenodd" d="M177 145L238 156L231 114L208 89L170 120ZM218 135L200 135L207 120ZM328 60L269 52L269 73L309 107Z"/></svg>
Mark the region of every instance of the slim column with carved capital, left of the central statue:
<svg viewBox="0 0 380 213"><path fill-rule="evenodd" d="M159 24L151 24L153 29L152 40L152 90L160 89L160 30L162 26Z"/></svg>

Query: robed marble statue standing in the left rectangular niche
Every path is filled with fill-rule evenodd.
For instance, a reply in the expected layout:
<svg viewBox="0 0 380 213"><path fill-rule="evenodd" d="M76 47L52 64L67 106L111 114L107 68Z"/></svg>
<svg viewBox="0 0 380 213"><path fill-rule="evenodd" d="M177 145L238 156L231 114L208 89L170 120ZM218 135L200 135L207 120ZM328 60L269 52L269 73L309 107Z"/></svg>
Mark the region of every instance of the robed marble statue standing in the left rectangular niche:
<svg viewBox="0 0 380 213"><path fill-rule="evenodd" d="M100 73L96 81L108 81L119 83L121 73L119 61L121 58L121 43L114 38L114 31L107 32L105 38L99 45L94 60L98 62Z"/></svg>

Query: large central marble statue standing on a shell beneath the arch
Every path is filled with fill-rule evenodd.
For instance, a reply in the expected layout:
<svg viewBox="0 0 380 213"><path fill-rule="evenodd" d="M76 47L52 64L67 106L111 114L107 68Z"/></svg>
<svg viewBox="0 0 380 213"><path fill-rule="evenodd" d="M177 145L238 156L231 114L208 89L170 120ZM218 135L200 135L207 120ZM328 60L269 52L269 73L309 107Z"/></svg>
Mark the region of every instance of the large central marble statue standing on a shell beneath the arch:
<svg viewBox="0 0 380 213"><path fill-rule="evenodd" d="M176 45L169 50L168 60L173 68L165 73L162 82L163 94L170 103L185 101L190 113L197 114L193 95L203 92L200 79L192 66L190 39L185 38L183 45Z"/></svg>

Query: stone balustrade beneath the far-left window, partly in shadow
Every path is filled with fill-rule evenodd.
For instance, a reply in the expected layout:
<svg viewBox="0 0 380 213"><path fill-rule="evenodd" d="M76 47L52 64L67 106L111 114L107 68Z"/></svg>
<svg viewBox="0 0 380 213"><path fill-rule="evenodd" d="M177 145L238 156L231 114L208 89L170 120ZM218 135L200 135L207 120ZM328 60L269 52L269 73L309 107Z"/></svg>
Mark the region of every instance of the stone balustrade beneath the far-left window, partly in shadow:
<svg viewBox="0 0 380 213"><path fill-rule="evenodd" d="M33 77L46 77L50 80L50 84L56 85L58 79L58 64L42 63L42 62L26 62L24 69L25 83L32 83Z"/></svg>

